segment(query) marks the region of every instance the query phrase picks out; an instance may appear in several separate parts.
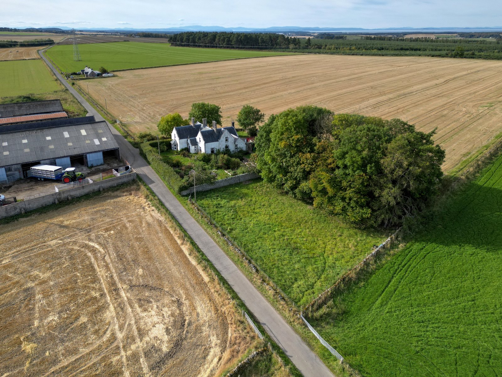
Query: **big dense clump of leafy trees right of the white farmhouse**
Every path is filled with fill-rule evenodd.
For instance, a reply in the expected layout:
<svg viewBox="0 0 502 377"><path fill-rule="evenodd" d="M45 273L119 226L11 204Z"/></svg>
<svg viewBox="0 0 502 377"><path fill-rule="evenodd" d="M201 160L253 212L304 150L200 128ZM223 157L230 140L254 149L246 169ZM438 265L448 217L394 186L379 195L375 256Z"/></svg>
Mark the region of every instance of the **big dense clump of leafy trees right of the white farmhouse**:
<svg viewBox="0 0 502 377"><path fill-rule="evenodd" d="M260 127L257 167L278 189L349 222L399 225L437 193L445 153L434 132L299 107Z"/></svg>

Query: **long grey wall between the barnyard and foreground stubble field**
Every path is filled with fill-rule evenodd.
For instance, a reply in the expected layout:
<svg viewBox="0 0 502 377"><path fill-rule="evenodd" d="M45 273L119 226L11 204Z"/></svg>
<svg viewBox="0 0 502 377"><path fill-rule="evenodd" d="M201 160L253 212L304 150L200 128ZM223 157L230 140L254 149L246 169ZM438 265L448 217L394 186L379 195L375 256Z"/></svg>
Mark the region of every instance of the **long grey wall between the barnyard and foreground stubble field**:
<svg viewBox="0 0 502 377"><path fill-rule="evenodd" d="M36 210L37 208L49 206L51 204L68 201L72 198L78 198L86 194L94 193L109 187L118 186L119 184L131 182L136 179L136 172L120 175L114 178L108 178L99 182L85 184L83 186L75 187L74 189L60 191L59 193L47 194L38 198L26 200L10 204L8 206L0 207L0 219L9 216L20 215L29 211Z"/></svg>

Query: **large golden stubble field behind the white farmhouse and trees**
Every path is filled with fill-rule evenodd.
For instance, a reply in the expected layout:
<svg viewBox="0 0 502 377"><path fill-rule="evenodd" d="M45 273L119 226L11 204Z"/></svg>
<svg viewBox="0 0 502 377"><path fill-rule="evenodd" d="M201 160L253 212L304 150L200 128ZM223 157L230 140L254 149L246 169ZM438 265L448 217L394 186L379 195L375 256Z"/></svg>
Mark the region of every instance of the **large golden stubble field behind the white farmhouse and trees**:
<svg viewBox="0 0 502 377"><path fill-rule="evenodd" d="M106 98L108 111L133 132L155 130L168 113L187 117L194 102L221 106L225 125L245 104L267 116L312 104L401 118L425 132L437 127L449 170L498 134L502 121L500 61L297 55L118 74L82 85L103 105Z"/></svg>

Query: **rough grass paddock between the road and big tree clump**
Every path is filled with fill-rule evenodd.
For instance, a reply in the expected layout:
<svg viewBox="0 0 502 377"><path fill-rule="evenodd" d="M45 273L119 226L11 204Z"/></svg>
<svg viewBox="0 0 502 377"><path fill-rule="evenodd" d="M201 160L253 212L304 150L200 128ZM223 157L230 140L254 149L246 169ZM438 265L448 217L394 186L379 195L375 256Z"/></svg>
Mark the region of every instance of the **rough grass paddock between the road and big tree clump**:
<svg viewBox="0 0 502 377"><path fill-rule="evenodd" d="M197 203L299 305L389 233L343 224L261 180L197 194Z"/></svg>

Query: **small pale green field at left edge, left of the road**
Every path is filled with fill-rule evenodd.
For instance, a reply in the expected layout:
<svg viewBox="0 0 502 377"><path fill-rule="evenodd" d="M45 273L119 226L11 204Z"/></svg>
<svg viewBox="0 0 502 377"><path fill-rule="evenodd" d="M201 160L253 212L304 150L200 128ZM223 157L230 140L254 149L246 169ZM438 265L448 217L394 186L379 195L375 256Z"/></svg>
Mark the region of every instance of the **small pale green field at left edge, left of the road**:
<svg viewBox="0 0 502 377"><path fill-rule="evenodd" d="M0 61L0 82L0 97L61 89L42 60Z"/></svg>

